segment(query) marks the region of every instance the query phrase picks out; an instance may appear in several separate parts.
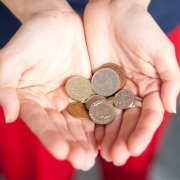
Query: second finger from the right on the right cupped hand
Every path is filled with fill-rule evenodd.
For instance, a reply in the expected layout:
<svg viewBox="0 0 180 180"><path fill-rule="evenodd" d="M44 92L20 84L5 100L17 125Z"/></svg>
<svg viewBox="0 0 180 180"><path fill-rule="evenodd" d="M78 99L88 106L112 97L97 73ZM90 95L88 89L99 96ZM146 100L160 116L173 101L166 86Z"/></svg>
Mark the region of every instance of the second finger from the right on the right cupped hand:
<svg viewBox="0 0 180 180"><path fill-rule="evenodd" d="M116 166L124 165L131 155L127 148L127 140L136 127L140 111L140 108L131 108L123 114L122 125L111 151L112 160Z"/></svg>

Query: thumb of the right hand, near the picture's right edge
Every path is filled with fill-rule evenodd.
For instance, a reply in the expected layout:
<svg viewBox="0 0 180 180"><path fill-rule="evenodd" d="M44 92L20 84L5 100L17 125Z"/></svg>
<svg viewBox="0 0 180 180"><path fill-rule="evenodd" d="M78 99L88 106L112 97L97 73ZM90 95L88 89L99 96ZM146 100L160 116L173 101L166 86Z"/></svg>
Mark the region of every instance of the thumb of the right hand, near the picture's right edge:
<svg viewBox="0 0 180 180"><path fill-rule="evenodd" d="M176 113L177 97L180 92L180 69L174 46L164 49L155 66L162 80L161 99L168 112Z"/></svg>

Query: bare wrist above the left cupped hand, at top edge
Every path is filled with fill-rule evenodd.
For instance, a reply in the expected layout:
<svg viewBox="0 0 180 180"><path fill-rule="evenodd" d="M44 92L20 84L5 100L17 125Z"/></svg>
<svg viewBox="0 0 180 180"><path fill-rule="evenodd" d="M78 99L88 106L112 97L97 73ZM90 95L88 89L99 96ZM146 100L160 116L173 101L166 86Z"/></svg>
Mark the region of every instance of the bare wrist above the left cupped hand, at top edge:
<svg viewBox="0 0 180 180"><path fill-rule="evenodd" d="M21 22L41 12L73 11L66 0L2 0L2 2Z"/></svg>

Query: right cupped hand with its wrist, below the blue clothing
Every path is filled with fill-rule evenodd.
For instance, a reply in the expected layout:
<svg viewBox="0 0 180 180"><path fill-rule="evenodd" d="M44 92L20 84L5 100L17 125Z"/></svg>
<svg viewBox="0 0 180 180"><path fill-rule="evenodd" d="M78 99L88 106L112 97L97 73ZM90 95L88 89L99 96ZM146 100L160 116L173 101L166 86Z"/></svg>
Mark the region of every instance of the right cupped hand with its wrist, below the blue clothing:
<svg viewBox="0 0 180 180"><path fill-rule="evenodd" d="M90 1L84 15L93 70L112 62L125 70L127 87L143 98L142 108L117 110L116 119L96 127L101 156L123 165L140 155L162 122L176 111L180 71L174 47L141 1Z"/></svg>

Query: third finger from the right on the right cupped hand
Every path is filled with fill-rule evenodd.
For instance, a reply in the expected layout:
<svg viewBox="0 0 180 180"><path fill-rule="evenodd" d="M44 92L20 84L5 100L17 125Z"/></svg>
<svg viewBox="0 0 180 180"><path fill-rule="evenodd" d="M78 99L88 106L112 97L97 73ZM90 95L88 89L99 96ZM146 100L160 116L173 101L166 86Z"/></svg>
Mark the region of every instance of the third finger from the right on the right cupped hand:
<svg viewBox="0 0 180 180"><path fill-rule="evenodd" d="M112 161L110 151L115 139L118 136L122 121L122 113L122 110L116 109L115 119L105 127L105 135L101 143L101 156L108 162Z"/></svg>

